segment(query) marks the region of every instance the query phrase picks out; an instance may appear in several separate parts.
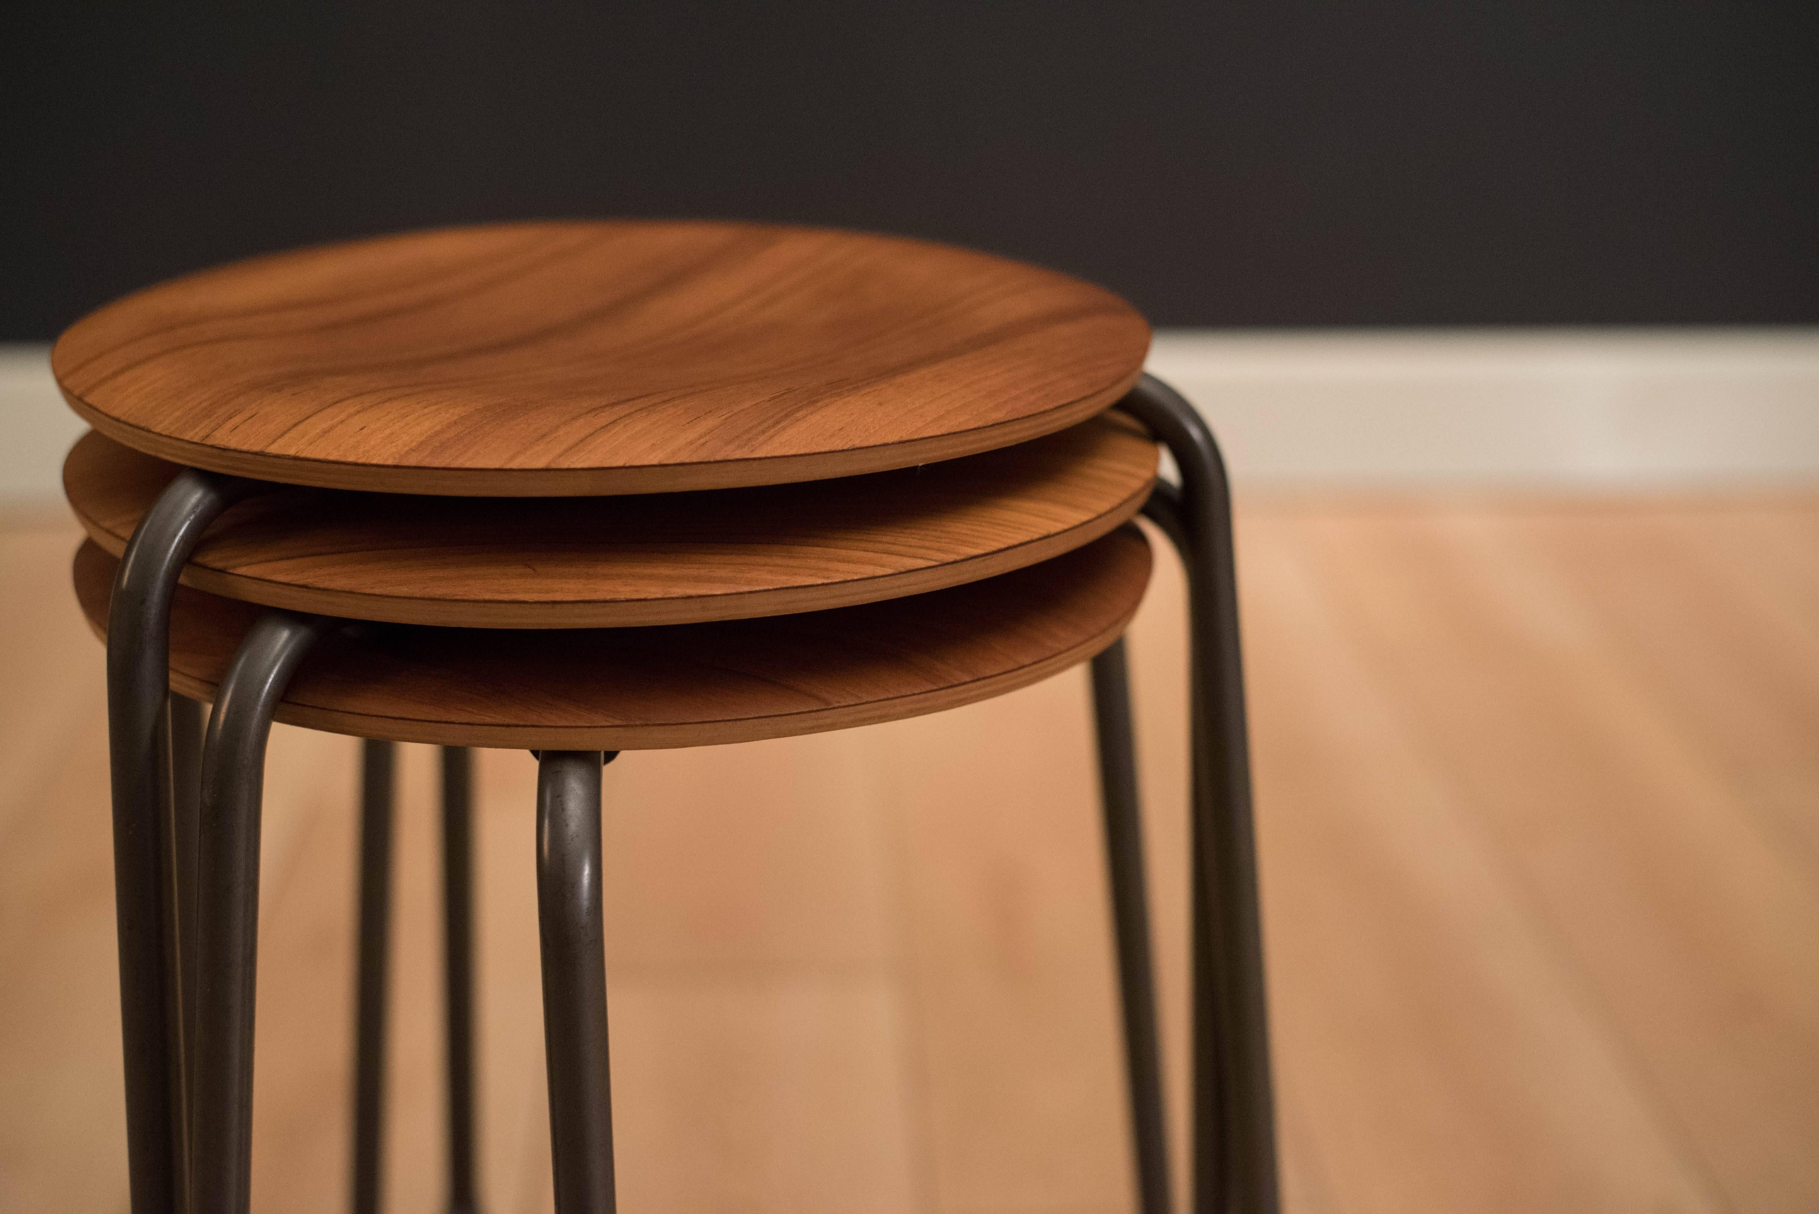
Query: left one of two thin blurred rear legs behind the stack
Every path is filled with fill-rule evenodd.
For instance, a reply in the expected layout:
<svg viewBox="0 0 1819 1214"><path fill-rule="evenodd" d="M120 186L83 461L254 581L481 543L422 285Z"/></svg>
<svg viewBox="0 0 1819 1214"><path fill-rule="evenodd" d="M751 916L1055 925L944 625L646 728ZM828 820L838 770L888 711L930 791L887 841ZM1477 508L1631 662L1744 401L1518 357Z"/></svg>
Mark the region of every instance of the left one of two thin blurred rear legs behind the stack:
<svg viewBox="0 0 1819 1214"><path fill-rule="evenodd" d="M360 938L353 1047L353 1210L378 1214L386 1139L386 987L397 747L360 743Z"/></svg>

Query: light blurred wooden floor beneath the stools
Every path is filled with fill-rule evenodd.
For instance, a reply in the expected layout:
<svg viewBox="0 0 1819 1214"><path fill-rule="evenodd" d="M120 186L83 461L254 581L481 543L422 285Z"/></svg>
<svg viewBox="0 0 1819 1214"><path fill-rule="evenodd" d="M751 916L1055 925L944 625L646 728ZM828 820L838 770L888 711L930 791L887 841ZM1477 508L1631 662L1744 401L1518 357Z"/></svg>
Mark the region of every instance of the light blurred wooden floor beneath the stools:
<svg viewBox="0 0 1819 1214"><path fill-rule="evenodd" d="M0 534L0 1207L124 1210L102 660ZM1819 1209L1819 498L1261 502L1242 534L1288 1209ZM1133 632L1182 1096L1181 585ZM440 1199L406 751L387 1209ZM482 758L484 1190L548 1209L533 763ZM622 1205L1128 1210L1084 678L606 772ZM353 743L282 729L255 1203L344 1207Z"/></svg>

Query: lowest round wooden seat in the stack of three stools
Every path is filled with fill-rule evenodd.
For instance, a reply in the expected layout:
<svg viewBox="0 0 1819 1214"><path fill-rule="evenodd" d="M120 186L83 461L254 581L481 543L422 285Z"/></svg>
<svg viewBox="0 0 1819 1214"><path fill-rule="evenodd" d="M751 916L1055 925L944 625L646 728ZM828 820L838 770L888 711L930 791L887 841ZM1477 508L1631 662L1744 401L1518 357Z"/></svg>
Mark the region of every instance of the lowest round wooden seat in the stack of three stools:
<svg viewBox="0 0 1819 1214"><path fill-rule="evenodd" d="M96 634L115 565L93 540L76 552L76 598ZM809 614L577 631L353 625L304 660L278 720L533 751L662 751L848 729L988 700L1082 662L1117 640L1148 580L1148 542L1121 527L984 582ZM171 687L213 700L262 611L178 589Z"/></svg>

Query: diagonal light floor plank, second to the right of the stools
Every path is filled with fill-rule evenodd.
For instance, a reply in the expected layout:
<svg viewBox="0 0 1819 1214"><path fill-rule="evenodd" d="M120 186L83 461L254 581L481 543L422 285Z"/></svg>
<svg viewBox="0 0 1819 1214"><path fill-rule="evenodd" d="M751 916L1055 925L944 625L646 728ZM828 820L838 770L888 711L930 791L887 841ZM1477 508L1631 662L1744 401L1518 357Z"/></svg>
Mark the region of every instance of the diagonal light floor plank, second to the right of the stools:
<svg viewBox="0 0 1819 1214"><path fill-rule="evenodd" d="M1346 520L1324 527L1322 556L1382 676L1633 1043L1688 1161L1739 1207L1812 1209L1819 887L1521 531L1490 514Z"/></svg>

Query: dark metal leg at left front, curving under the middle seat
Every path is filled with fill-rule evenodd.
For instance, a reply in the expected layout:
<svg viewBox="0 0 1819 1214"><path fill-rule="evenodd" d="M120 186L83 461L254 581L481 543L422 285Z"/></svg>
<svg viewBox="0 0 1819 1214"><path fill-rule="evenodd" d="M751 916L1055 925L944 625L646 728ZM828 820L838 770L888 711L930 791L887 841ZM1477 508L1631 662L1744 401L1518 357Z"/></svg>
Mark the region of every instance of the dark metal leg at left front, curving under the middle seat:
<svg viewBox="0 0 1819 1214"><path fill-rule="evenodd" d="M202 752L191 1212L246 1214L253 1172L253 990L266 740L286 683L333 620L267 612L240 642Z"/></svg>

